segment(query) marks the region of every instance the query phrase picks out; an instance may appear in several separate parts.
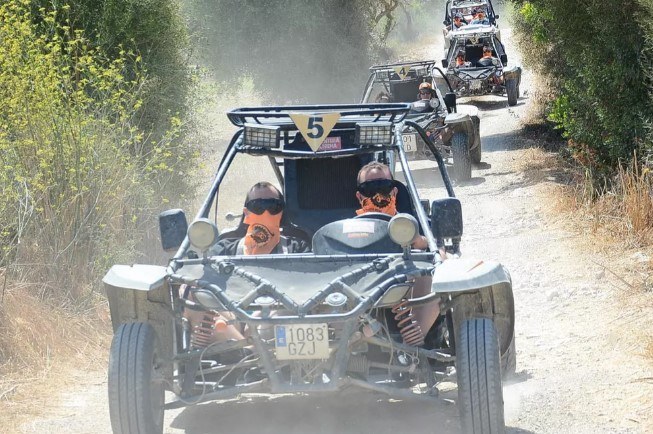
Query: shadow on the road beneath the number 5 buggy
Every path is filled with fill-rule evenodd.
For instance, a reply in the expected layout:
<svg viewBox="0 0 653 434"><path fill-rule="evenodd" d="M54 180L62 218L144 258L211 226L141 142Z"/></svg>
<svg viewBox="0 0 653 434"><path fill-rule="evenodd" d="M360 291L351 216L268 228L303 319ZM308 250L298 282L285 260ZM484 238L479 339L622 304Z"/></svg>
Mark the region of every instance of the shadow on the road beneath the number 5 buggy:
<svg viewBox="0 0 653 434"><path fill-rule="evenodd" d="M364 392L196 405L177 415L171 427L188 434L461 432L455 405L399 401Z"/></svg>

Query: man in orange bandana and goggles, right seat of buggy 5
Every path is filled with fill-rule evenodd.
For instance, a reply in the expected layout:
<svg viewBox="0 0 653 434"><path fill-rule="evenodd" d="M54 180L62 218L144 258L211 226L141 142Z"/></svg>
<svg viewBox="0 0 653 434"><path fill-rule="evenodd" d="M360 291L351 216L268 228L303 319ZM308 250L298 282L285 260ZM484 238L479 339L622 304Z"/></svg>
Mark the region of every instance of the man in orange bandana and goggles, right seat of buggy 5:
<svg viewBox="0 0 653 434"><path fill-rule="evenodd" d="M357 215L380 212L389 215L397 214L397 187L392 178L390 168L385 164L373 161L363 166L358 172L356 198L360 203ZM426 237L417 235L413 240L414 249L424 250L428 247ZM413 285L413 297L422 297L431 293L430 276L418 277ZM424 336L435 324L440 313L438 303L429 303L413 308L413 318L420 326Z"/></svg>

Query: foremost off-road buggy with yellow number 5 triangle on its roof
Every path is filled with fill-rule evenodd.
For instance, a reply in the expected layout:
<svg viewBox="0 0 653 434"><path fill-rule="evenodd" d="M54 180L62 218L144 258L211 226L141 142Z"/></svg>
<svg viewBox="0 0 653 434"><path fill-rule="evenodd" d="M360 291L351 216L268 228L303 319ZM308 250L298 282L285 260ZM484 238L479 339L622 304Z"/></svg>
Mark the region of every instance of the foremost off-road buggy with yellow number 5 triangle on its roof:
<svg viewBox="0 0 653 434"><path fill-rule="evenodd" d="M164 249L176 249L170 262L115 265L104 277L114 327L114 432L160 433L165 409L247 392L362 388L436 402L444 382L458 385L466 432L503 432L501 376L514 370L510 276L496 262L459 257L461 205L444 164L446 194L420 201L402 131L411 126L428 138L406 120L409 111L407 104L370 104L228 113L239 129L195 219L187 225L181 210L159 217ZM283 233L311 241L311 253L211 254L219 239L245 233L242 222L219 232L212 215L234 159L252 157L269 160L278 176ZM358 170L391 157L405 175L405 184L396 183L398 214L354 217ZM425 251L411 250L418 232ZM411 287L423 276L432 292L414 298ZM411 345L411 310L424 304L440 316L423 331L424 344ZM189 324L187 311L204 320ZM213 319L225 312L246 326L246 338L199 339L211 336ZM168 402L165 390L175 395Z"/></svg>

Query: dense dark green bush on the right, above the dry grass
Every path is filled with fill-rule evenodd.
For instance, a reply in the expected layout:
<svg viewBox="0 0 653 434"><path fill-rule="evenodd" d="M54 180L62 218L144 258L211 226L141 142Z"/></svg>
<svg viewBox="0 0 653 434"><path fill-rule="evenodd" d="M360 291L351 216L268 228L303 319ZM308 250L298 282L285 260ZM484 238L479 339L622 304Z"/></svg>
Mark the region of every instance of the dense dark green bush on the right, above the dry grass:
<svg viewBox="0 0 653 434"><path fill-rule="evenodd" d="M644 62L650 8L641 0L516 1L525 61L553 89L548 118L582 161L609 174L650 147L653 114ZM649 26L650 27L650 26Z"/></svg>

